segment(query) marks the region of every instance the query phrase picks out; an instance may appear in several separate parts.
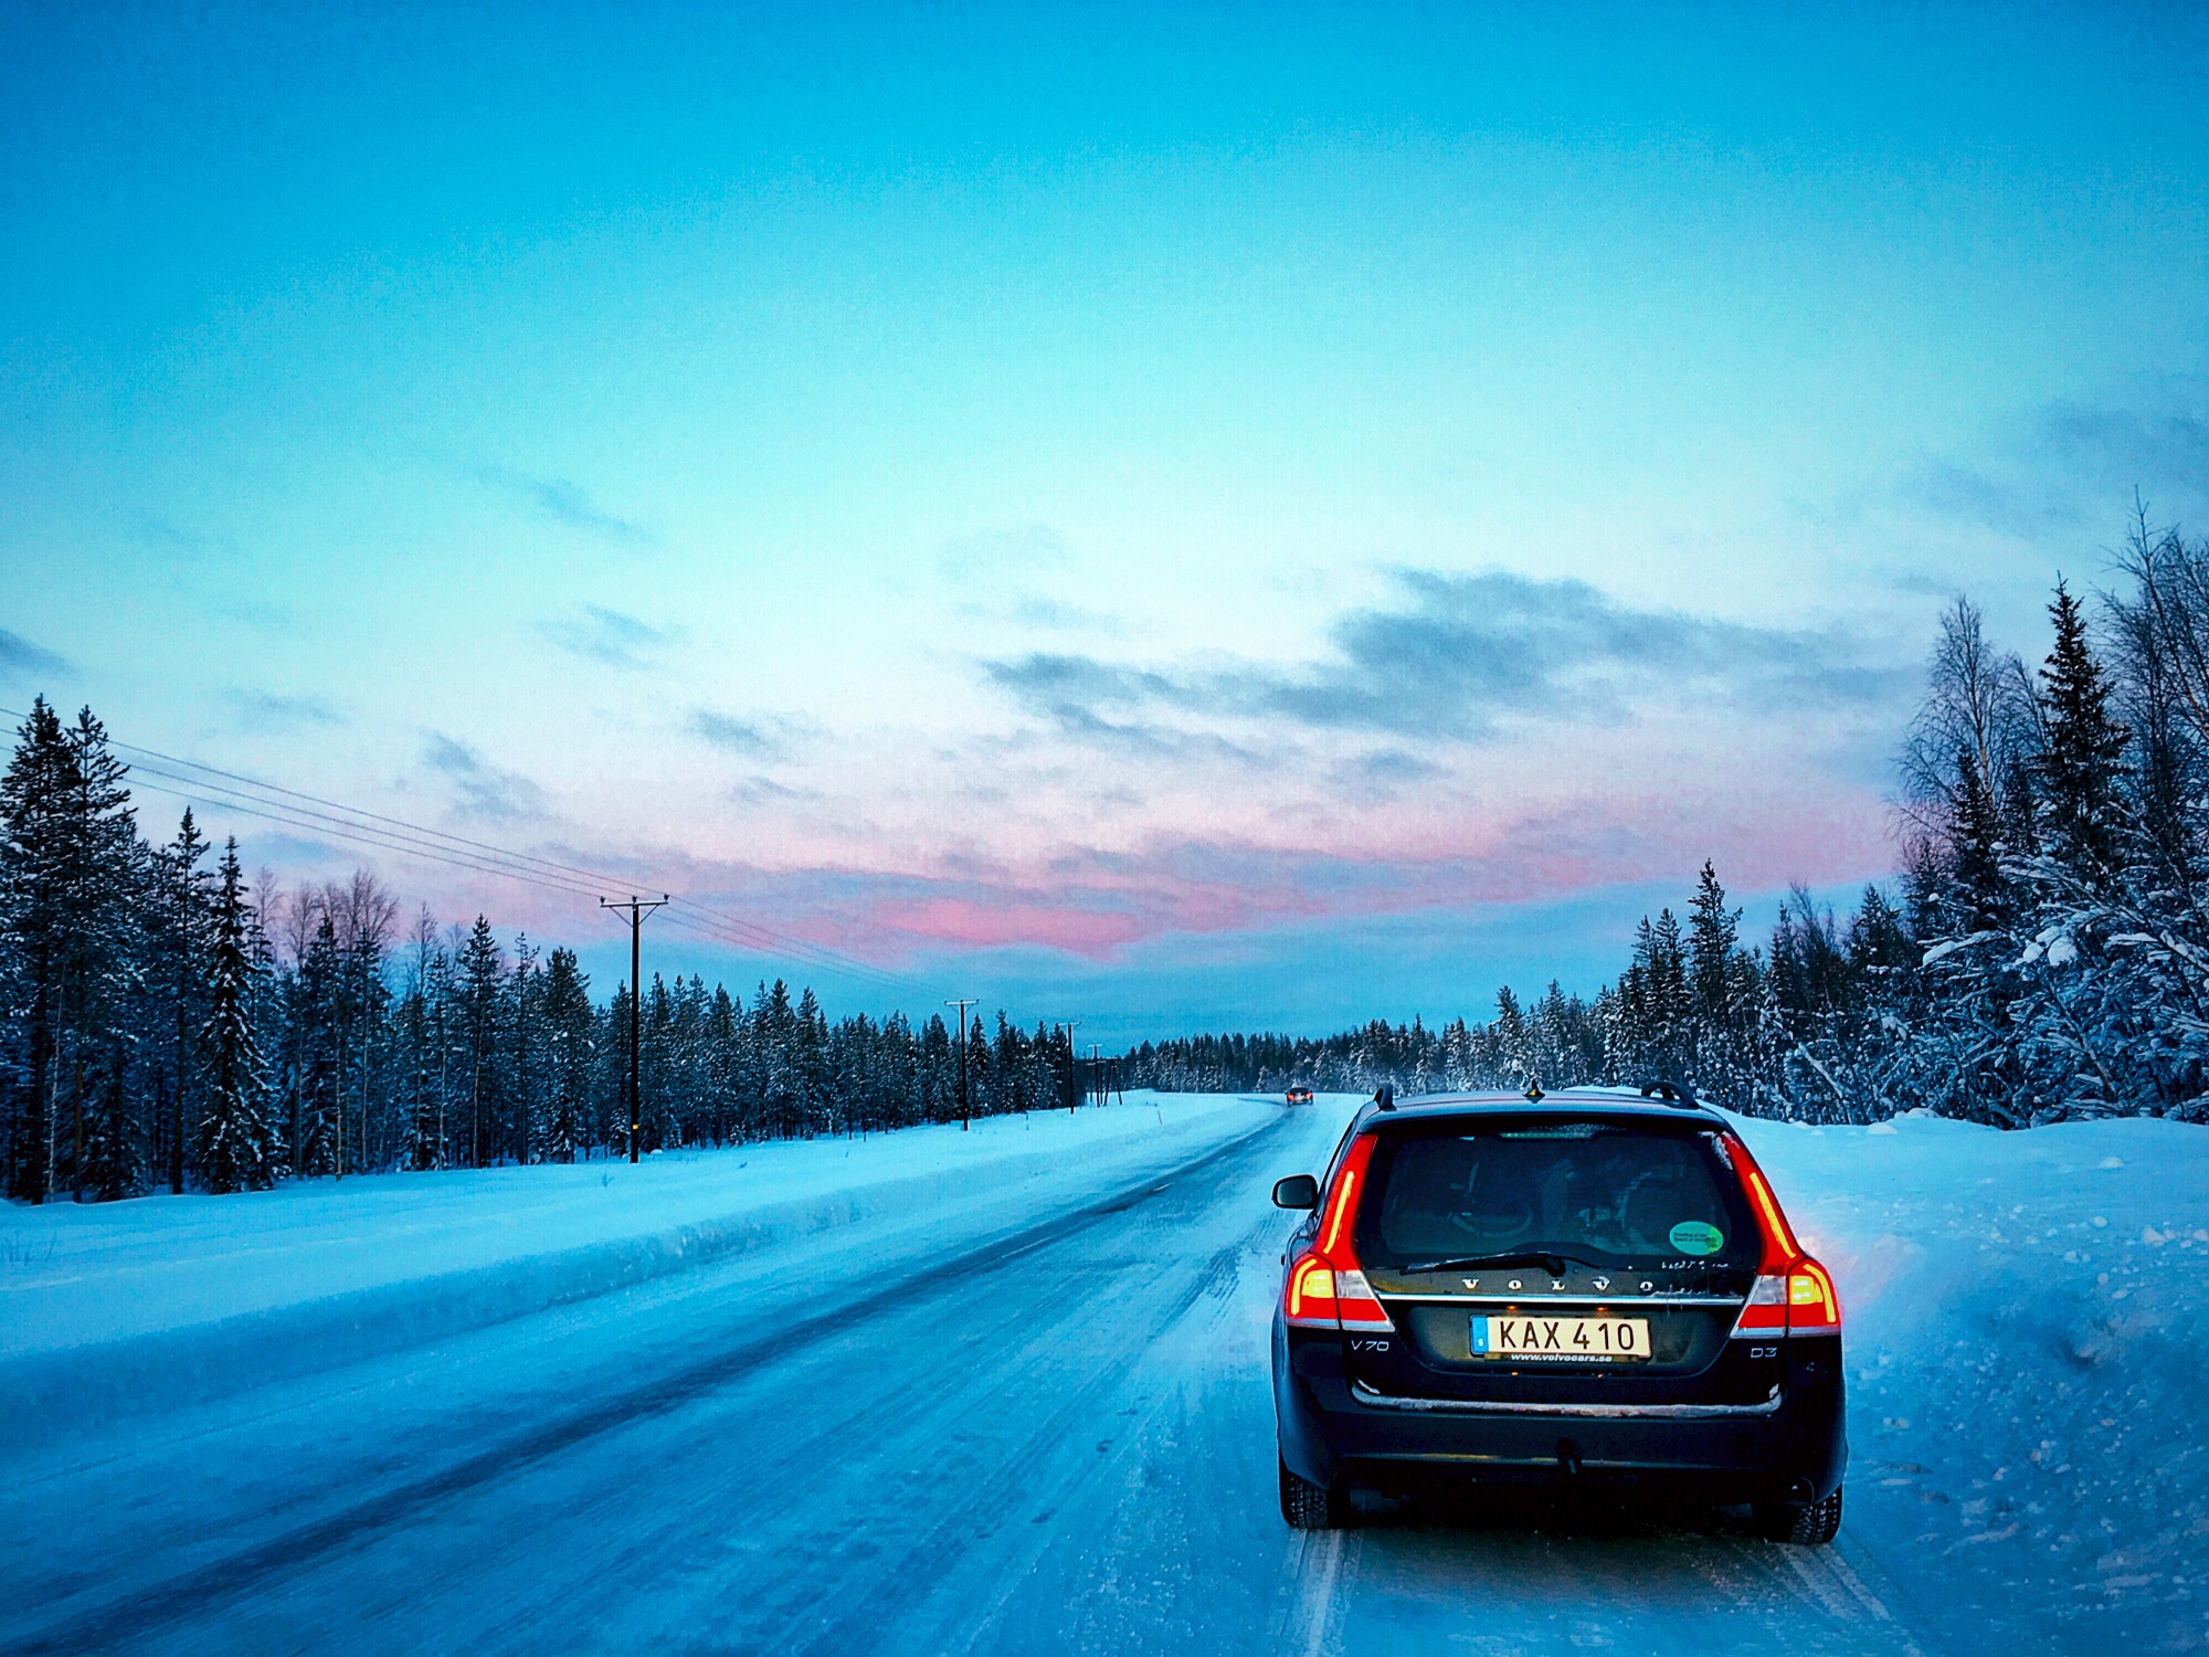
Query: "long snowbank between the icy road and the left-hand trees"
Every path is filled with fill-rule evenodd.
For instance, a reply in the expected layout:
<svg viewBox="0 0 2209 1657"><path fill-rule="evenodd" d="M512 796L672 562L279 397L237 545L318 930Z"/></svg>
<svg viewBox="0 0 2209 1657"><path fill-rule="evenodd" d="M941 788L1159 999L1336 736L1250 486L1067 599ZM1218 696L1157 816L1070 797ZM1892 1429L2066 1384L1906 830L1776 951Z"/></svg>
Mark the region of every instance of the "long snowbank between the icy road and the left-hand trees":
<svg viewBox="0 0 2209 1657"><path fill-rule="evenodd" d="M166 1410L855 1222L1025 1215L1272 1120L1241 1096L579 1162L0 1206L0 1443Z"/></svg>

